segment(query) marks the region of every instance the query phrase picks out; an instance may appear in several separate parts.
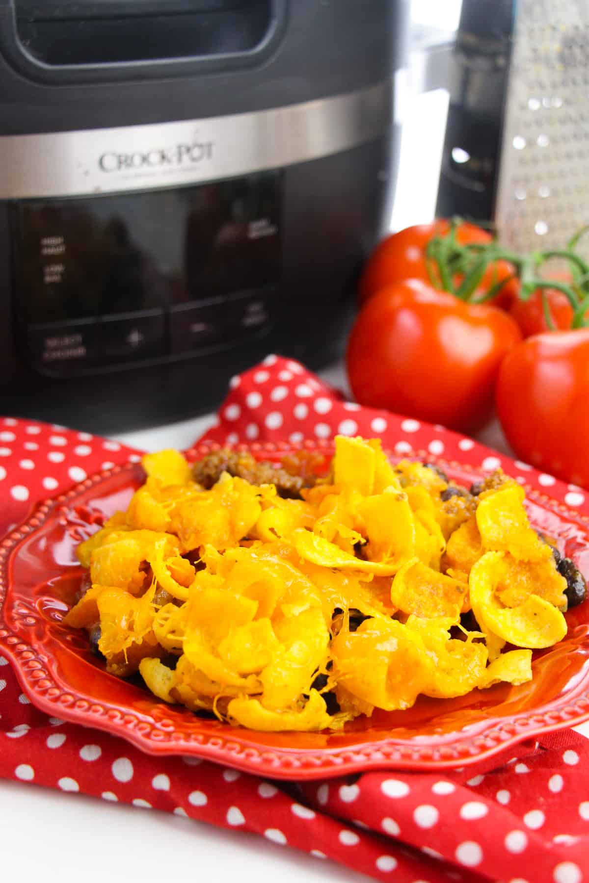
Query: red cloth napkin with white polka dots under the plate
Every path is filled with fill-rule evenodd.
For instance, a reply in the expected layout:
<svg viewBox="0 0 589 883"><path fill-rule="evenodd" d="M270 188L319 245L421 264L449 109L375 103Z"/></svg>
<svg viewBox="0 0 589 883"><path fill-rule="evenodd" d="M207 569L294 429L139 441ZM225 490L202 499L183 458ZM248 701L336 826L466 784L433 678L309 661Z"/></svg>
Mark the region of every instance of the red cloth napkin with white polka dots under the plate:
<svg viewBox="0 0 589 883"><path fill-rule="evenodd" d="M298 445L336 433L378 434L400 454L424 451L487 470L503 464L589 515L579 487L442 426L346 402L298 362L268 356L230 387L210 440ZM0 419L0 532L36 502L139 457L62 426ZM99 730L49 718L29 704L0 651L0 776L255 832L306 851L318 877L327 858L401 883L589 883L589 742L571 731L443 773L261 781L193 758L154 758Z"/></svg>

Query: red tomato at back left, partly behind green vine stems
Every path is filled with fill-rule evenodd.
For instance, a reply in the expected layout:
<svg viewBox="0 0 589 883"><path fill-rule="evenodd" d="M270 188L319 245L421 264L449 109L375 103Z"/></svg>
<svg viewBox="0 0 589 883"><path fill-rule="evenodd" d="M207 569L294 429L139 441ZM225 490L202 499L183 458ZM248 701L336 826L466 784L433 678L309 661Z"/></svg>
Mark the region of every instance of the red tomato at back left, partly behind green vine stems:
<svg viewBox="0 0 589 883"><path fill-rule="evenodd" d="M425 258L427 243L434 236L443 236L448 231L449 222L442 219L433 223L419 224L416 227L407 227L382 239L368 258L362 273L359 283L360 305L365 304L366 300L372 298L381 288L403 282L404 279L422 279L424 282L429 282ZM461 245L469 245L469 243L489 243L493 238L487 230L464 222L457 229L457 241ZM511 273L510 264L504 260L498 260L490 265L480 282L477 296L483 296L491 285L501 278L506 279ZM454 282L459 283L460 277L456 276ZM513 283L506 283L499 295L501 306L509 304L516 291L517 286L514 288Z"/></svg>

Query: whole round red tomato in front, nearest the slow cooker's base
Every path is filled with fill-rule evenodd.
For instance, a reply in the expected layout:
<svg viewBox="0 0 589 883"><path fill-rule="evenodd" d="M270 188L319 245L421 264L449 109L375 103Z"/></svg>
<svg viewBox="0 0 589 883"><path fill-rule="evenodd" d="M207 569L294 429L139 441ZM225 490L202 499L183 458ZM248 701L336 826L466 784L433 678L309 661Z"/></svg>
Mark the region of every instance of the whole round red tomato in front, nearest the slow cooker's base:
<svg viewBox="0 0 589 883"><path fill-rule="evenodd" d="M520 340L497 307L406 280L360 311L347 351L351 389L360 404L472 430L489 417L502 358Z"/></svg>

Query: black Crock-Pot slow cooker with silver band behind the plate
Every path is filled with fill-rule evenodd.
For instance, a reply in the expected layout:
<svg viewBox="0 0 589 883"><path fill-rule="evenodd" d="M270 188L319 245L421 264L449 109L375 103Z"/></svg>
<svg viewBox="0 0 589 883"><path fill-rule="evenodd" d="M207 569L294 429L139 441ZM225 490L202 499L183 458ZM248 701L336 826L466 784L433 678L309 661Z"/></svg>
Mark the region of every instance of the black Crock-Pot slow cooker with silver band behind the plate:
<svg viewBox="0 0 589 883"><path fill-rule="evenodd" d="M335 358L404 2L0 0L4 412L112 432Z"/></svg>

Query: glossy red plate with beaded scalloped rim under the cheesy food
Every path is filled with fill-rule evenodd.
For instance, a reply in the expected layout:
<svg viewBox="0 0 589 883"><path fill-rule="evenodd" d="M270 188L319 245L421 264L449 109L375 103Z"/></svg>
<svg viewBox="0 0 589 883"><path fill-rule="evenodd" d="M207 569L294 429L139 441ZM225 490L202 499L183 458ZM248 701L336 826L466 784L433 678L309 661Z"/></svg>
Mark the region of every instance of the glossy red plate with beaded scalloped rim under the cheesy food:
<svg viewBox="0 0 589 883"><path fill-rule="evenodd" d="M255 446L257 457L276 459L284 453L283 445L266 444L263 453L260 448ZM204 444L199 452L208 449ZM470 465L429 459L465 485L484 474ZM497 685L457 699L421 697L408 711L374 712L340 733L234 728L196 717L182 706L167 706L135 683L108 675L90 653L85 634L64 628L61 620L79 586L75 547L104 517L125 509L142 478L136 465L98 473L55 502L43 503L0 546L0 646L42 711L107 730L152 754L208 758L276 779L313 779L369 767L464 766L589 718L589 602L567 614L569 630L560 644L534 653L531 683ZM532 524L555 537L583 568L589 554L587 519L531 487L526 493Z"/></svg>

